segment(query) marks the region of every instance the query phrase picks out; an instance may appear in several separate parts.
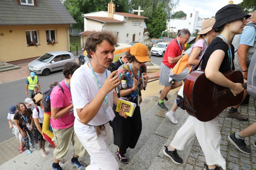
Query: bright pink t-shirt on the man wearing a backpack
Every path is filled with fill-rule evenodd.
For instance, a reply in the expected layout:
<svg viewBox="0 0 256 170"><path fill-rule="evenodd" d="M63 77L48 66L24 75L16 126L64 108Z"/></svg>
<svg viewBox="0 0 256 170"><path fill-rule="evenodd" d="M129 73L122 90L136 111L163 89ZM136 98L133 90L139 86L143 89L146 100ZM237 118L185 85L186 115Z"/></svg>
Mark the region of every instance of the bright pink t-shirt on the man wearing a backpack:
<svg viewBox="0 0 256 170"><path fill-rule="evenodd" d="M59 84L63 88L64 94L61 89L56 86L51 92L50 99L51 107L60 107L61 110L72 104L72 97L70 88L65 84L65 80L62 80ZM54 129L66 129L74 124L74 120L74 109L72 108L65 115L55 120L51 117L51 126Z"/></svg>

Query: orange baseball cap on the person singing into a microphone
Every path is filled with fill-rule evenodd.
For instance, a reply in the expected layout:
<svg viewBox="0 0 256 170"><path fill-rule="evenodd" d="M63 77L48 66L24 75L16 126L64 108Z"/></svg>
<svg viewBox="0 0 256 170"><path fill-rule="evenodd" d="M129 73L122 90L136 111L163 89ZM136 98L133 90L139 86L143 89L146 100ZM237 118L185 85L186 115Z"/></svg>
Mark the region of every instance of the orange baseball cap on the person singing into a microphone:
<svg viewBox="0 0 256 170"><path fill-rule="evenodd" d="M136 60L141 63L150 62L147 54L147 46L142 43L136 43L131 47L130 54L134 55Z"/></svg>

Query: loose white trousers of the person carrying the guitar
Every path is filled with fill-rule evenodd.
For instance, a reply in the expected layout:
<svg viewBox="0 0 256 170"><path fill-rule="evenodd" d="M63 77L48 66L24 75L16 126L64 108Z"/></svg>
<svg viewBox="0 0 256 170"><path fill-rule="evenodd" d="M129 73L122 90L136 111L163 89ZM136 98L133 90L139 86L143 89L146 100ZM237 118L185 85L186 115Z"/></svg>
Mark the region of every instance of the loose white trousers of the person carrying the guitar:
<svg viewBox="0 0 256 170"><path fill-rule="evenodd" d="M218 117L208 122L201 122L189 116L186 122L175 134L170 146L183 150L194 138L202 148L208 165L219 165L226 170L226 161L221 155L221 132L219 131Z"/></svg>

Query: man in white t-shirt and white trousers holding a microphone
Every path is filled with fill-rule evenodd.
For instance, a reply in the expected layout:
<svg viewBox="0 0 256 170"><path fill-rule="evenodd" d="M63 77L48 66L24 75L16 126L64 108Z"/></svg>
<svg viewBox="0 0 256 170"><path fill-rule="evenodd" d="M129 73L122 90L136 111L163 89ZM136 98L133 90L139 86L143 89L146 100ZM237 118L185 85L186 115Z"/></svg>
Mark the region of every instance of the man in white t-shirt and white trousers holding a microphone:
<svg viewBox="0 0 256 170"><path fill-rule="evenodd" d="M70 81L75 116L74 130L91 159L86 170L119 169L108 148L108 122L115 116L112 106L118 100L113 89L119 84L119 78L117 71L111 73L107 69L113 61L116 43L117 38L111 32L91 34L85 43L91 61L78 68ZM119 114L127 117L123 110Z"/></svg>

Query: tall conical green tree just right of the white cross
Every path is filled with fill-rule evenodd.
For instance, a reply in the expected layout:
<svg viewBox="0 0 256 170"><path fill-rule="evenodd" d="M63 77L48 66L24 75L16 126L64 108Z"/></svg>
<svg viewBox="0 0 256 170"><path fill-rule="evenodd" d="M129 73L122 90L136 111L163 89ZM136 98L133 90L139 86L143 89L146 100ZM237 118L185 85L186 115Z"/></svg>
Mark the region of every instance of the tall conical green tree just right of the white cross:
<svg viewBox="0 0 256 170"><path fill-rule="evenodd" d="M157 5L156 11L153 13L150 22L147 24L150 37L160 37L162 31L166 29L166 16L162 8L162 3Z"/></svg>

